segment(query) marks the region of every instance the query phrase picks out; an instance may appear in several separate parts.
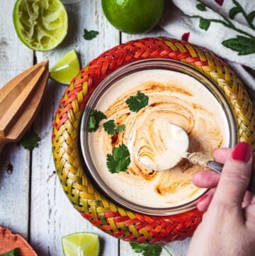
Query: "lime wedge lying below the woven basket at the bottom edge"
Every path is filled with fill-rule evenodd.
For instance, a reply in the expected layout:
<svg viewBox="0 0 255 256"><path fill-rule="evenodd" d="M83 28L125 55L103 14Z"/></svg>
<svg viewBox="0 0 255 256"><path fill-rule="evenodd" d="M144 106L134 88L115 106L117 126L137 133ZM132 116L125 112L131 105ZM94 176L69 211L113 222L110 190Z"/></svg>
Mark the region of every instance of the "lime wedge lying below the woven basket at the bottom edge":
<svg viewBox="0 0 255 256"><path fill-rule="evenodd" d="M98 256L99 236L94 233L74 233L62 238L65 256Z"/></svg>

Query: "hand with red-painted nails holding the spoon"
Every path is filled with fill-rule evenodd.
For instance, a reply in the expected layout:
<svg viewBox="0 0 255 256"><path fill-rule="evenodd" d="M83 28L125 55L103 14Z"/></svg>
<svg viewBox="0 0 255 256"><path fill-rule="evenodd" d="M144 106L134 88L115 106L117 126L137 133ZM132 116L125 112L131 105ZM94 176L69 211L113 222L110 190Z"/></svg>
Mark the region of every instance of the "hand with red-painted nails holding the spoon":
<svg viewBox="0 0 255 256"><path fill-rule="evenodd" d="M196 186L210 191L198 201L197 208L206 213L187 255L254 256L255 195L246 190L251 172L255 172L255 157L247 143L238 143L234 149L219 148L214 156L225 163L221 175L203 171L193 176Z"/></svg>

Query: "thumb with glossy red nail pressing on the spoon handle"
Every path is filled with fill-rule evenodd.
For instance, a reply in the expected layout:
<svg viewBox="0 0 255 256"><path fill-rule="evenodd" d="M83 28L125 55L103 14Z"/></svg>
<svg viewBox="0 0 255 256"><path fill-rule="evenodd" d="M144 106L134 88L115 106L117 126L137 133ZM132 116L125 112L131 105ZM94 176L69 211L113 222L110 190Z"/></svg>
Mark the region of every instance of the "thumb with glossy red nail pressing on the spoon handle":
<svg viewBox="0 0 255 256"><path fill-rule="evenodd" d="M213 201L241 208L249 187L251 169L251 147L248 143L238 143L225 162Z"/></svg>

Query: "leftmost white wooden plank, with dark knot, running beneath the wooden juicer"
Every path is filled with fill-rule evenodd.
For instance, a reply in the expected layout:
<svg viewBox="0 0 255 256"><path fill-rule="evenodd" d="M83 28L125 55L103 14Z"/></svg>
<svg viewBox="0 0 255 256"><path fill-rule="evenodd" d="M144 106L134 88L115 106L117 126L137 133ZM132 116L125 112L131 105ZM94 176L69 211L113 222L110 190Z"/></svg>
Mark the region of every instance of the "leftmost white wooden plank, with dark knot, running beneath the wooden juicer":
<svg viewBox="0 0 255 256"><path fill-rule="evenodd" d="M15 0L0 1L0 87L33 65L33 51L18 39L13 27ZM0 156L0 225L28 237L30 153L16 143Z"/></svg>

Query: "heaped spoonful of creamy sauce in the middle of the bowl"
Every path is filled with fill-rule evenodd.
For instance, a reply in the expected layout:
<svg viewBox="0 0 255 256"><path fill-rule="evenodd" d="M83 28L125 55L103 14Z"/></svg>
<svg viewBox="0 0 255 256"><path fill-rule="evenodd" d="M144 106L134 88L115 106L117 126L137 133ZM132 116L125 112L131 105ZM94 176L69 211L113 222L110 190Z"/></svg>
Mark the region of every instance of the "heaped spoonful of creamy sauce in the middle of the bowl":
<svg viewBox="0 0 255 256"><path fill-rule="evenodd" d="M148 131L148 130L149 131ZM177 165L188 150L188 134L180 126L171 123L171 118L161 117L149 122L145 128L145 138L148 139L140 145L137 160L144 167L164 171ZM133 144L128 145L132 150Z"/></svg>

